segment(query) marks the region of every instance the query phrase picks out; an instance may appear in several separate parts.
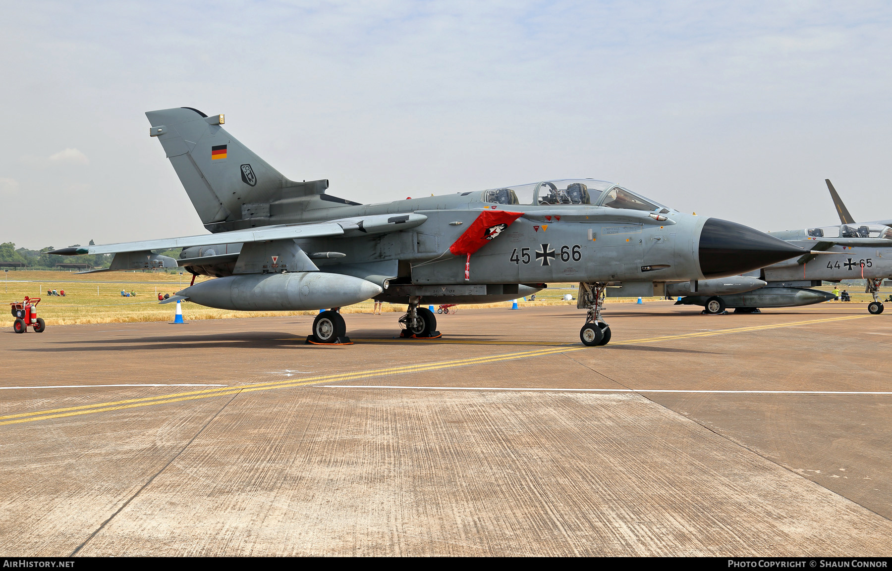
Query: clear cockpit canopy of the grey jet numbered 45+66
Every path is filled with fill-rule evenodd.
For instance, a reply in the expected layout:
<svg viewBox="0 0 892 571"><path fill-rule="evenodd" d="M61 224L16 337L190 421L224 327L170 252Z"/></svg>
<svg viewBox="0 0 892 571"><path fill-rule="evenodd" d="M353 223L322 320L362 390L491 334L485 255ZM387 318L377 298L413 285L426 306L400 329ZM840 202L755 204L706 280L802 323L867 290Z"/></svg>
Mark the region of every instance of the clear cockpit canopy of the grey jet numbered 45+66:
<svg viewBox="0 0 892 571"><path fill-rule="evenodd" d="M662 204L618 184L593 178L566 178L541 183L517 184L483 191L483 202L496 204L529 204L536 206L592 205L607 208L630 208L653 212L665 210ZM664 214L665 214L664 212Z"/></svg>

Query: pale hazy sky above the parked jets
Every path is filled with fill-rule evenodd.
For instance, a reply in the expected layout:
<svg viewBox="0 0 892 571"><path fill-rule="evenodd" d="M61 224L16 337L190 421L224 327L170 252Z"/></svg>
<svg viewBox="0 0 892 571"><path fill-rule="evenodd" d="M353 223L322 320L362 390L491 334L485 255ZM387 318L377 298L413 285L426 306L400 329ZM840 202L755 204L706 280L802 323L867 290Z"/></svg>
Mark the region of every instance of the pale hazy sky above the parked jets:
<svg viewBox="0 0 892 571"><path fill-rule="evenodd" d="M361 202L591 176L762 230L892 217L888 2L0 2L0 241L202 233L146 110Z"/></svg>

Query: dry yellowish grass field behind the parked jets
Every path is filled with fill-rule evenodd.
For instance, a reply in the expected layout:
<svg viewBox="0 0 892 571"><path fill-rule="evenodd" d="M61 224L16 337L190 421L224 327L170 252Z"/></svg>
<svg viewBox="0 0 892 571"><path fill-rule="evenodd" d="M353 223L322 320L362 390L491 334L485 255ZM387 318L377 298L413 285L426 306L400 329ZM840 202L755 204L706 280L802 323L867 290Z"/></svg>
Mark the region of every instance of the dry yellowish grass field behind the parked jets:
<svg viewBox="0 0 892 571"><path fill-rule="evenodd" d="M108 272L77 274L54 271L10 271L3 274L4 304L21 301L25 296L41 298L37 306L37 314L43 317L47 325L69 325L78 323L120 323L120 322L160 322L173 319L176 305L158 304L158 293L173 294L189 285L192 275L184 273L160 272ZM211 278L199 277L195 282ZM47 296L46 290L65 290L65 297ZM832 290L830 286L822 286L822 290ZM840 288L841 290L842 288ZM852 294L852 301L866 302L870 296L863 288L847 288ZM121 290L135 291L136 297L122 298ZM888 295L888 288L883 289L883 298ZM550 284L547 290L536 294L533 302L521 301L520 306L575 305L575 301L564 301L565 294L576 297L576 284ZM607 303L632 303L634 298L608 298ZM830 302L834 303L834 302ZM494 304L478 304L461 306L461 310L475 307L507 307L511 302ZM342 308L342 313L372 313L372 302L366 301L354 306ZM406 306L384 304L384 312L404 312ZM227 319L233 317L255 317L270 315L314 314L312 311L302 312L235 312L225 309L183 304L186 320ZM4 310L0 325L12 326L12 313Z"/></svg>

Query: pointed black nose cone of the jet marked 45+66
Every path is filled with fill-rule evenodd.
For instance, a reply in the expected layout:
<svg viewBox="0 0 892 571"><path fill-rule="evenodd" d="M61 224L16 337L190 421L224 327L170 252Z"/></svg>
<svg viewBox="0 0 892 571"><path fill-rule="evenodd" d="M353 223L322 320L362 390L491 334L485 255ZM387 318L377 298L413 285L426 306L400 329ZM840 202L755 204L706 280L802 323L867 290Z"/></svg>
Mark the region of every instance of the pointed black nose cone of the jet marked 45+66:
<svg viewBox="0 0 892 571"><path fill-rule="evenodd" d="M749 226L709 218L700 232L700 271L706 278L751 272L806 250Z"/></svg>

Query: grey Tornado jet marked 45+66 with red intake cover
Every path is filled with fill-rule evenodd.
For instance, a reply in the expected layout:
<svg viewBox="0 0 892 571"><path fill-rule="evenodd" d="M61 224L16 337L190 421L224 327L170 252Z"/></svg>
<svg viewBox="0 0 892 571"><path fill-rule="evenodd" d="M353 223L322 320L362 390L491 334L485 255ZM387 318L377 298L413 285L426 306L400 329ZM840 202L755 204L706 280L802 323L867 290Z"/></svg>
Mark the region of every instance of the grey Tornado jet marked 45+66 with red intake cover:
<svg viewBox="0 0 892 571"><path fill-rule="evenodd" d="M326 192L327 180L285 178L229 135L222 115L178 108L146 116L210 233L54 253L113 253L109 270L180 266L216 278L169 301L327 309L313 323L312 343L346 342L333 309L368 298L408 305L404 337L436 337L434 314L423 305L504 301L548 282L578 281L579 307L587 310L582 342L604 345L611 335L601 317L605 295L662 295L667 282L735 275L807 253L592 179L360 204ZM429 193L423 182L411 188ZM180 259L154 253L170 248L183 248ZM608 284L616 287L606 293Z"/></svg>

